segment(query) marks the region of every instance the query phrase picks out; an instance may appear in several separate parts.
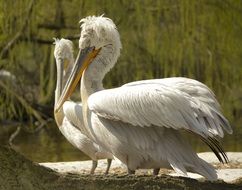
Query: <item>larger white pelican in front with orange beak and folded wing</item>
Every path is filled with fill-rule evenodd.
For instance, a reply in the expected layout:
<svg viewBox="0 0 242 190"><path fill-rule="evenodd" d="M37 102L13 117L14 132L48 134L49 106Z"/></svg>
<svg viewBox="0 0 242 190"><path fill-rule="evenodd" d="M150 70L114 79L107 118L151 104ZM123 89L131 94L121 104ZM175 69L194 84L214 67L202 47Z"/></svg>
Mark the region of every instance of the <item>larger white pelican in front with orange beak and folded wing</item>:
<svg viewBox="0 0 242 190"><path fill-rule="evenodd" d="M103 16L81 21L79 54L61 97L59 109L81 80L85 135L136 169L172 168L187 175L198 173L216 180L212 165L199 158L181 133L201 138L221 162L228 158L218 143L232 129L213 92L189 78L136 81L104 89L102 80L115 65L121 50L117 27ZM131 55L132 56L132 55Z"/></svg>

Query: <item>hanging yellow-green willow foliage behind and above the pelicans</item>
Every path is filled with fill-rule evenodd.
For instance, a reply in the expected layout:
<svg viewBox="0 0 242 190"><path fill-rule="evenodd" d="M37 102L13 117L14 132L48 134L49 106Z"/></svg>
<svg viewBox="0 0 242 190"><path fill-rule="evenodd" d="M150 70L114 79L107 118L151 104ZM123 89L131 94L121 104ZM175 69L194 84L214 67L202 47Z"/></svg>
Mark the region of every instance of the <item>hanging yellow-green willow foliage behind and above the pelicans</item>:
<svg viewBox="0 0 242 190"><path fill-rule="evenodd" d="M25 93L31 94L31 105L53 104L52 38L70 38L77 49L78 21L105 13L117 24L123 43L117 65L105 78L106 87L190 77L215 92L230 120L241 116L242 1L33 0L29 14L31 2L0 2L1 49L21 32L7 55L1 53L0 68L11 71L29 89Z"/></svg>

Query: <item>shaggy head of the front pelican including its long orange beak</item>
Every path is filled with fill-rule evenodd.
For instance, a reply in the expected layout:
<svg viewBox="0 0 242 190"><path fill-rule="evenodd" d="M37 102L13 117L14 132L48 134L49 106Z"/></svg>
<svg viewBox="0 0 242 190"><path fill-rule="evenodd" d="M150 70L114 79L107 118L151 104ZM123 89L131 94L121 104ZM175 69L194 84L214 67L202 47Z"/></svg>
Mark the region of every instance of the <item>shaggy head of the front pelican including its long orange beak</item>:
<svg viewBox="0 0 242 190"><path fill-rule="evenodd" d="M122 48L117 27L111 19L88 16L81 19L80 23L80 51L58 101L56 112L73 93L84 71L93 80L102 80L116 63Z"/></svg>

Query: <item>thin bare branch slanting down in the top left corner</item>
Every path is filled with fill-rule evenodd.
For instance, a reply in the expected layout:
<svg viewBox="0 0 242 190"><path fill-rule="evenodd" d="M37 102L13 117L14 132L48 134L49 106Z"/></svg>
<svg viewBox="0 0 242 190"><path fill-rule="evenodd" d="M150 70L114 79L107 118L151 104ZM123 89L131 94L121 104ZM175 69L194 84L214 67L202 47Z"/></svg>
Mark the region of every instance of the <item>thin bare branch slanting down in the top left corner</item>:
<svg viewBox="0 0 242 190"><path fill-rule="evenodd" d="M18 39L22 36L24 33L24 30L27 28L28 23L29 23L29 18L31 18L31 14L33 11L33 6L34 6L35 0L31 0L29 3L29 8L27 15L25 17L24 23L20 30L15 34L15 36L5 45L5 47L2 49L0 53L0 59L4 59L7 57L9 50L14 46L14 44L18 41Z"/></svg>

